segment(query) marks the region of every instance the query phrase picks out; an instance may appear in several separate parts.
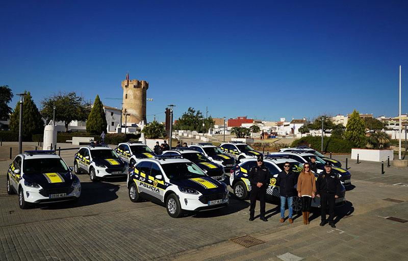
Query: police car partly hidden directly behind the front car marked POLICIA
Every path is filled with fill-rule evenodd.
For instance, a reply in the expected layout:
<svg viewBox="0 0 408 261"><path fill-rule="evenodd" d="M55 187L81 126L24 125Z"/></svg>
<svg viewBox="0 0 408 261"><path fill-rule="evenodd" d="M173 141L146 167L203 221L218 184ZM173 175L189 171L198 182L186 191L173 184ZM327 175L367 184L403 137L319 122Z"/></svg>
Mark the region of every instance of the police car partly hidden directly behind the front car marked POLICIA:
<svg viewBox="0 0 408 261"><path fill-rule="evenodd" d="M204 154L189 148L176 148L163 151L162 155L182 155L195 163L200 169L212 178L223 181L225 179L225 170L222 165L211 162Z"/></svg>

